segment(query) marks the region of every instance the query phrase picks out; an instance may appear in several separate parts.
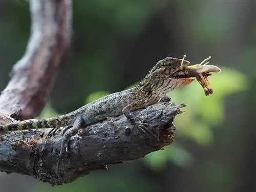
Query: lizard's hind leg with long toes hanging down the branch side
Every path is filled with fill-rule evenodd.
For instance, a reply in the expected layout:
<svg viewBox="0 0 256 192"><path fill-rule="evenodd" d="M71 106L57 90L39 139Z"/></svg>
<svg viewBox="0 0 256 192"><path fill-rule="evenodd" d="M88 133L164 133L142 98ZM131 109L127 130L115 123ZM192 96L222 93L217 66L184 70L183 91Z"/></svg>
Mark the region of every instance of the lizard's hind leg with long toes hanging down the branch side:
<svg viewBox="0 0 256 192"><path fill-rule="evenodd" d="M84 119L81 116L78 116L72 127L68 127L69 129L63 130L63 138L61 141L60 152L59 152L59 157L57 162L57 175L58 175L59 161L61 156L63 155L64 150L66 152L69 152L69 144L70 144L71 137L77 134L77 132L85 126L86 126L86 123Z"/></svg>

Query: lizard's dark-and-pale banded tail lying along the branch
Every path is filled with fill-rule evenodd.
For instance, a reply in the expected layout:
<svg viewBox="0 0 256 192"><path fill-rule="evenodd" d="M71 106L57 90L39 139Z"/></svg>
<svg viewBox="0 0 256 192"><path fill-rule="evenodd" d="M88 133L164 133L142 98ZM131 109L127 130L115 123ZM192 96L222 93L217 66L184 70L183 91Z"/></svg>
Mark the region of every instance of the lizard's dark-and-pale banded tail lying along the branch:
<svg viewBox="0 0 256 192"><path fill-rule="evenodd" d="M50 118L50 119L31 119L20 123L5 124L0 126L0 131L17 131L30 129L54 128L66 125L68 118Z"/></svg>

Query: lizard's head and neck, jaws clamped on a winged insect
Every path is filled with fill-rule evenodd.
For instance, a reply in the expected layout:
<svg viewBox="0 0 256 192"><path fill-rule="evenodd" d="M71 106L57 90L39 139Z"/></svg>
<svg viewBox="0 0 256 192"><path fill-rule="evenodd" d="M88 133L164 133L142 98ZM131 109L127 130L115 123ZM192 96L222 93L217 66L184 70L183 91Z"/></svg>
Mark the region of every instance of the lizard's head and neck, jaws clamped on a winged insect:
<svg viewBox="0 0 256 192"><path fill-rule="evenodd" d="M182 59L166 57L159 60L137 88L140 89L140 92L156 94L157 97L161 97L169 91L187 86L195 79L205 80L210 72L220 71L216 66L207 65L210 57L193 66L189 66L190 62L184 58L185 55ZM198 78L200 75L205 78ZM206 84L208 81L204 83Z"/></svg>

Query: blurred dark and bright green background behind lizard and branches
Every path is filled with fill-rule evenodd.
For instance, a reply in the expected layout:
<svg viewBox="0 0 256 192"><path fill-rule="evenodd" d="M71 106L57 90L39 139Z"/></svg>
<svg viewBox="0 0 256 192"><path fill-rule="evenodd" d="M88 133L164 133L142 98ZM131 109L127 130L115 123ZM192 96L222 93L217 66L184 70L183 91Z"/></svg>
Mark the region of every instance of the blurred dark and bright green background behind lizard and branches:
<svg viewBox="0 0 256 192"><path fill-rule="evenodd" d="M197 82L168 94L187 106L175 119L175 143L162 151L57 187L1 173L0 191L256 191L255 6L249 0L74 1L72 57L39 118L131 87L166 56L186 54L195 64L210 55L222 69L209 77L214 94L205 97ZM25 52L29 4L1 0L0 15L3 90Z"/></svg>

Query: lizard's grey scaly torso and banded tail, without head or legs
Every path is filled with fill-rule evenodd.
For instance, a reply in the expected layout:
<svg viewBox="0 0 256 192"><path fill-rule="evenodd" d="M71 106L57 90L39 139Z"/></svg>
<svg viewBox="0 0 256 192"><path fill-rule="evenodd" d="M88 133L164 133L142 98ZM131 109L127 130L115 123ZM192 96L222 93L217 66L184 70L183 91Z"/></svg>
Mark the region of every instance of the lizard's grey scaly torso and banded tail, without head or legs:
<svg viewBox="0 0 256 192"><path fill-rule="evenodd" d="M0 130L15 131L72 126L77 116L81 116L86 125L89 125L97 121L104 120L107 117L121 115L122 108L130 104L134 98L135 95L132 88L106 95L65 115L48 119L31 119L20 123L6 124L0 126Z"/></svg>

